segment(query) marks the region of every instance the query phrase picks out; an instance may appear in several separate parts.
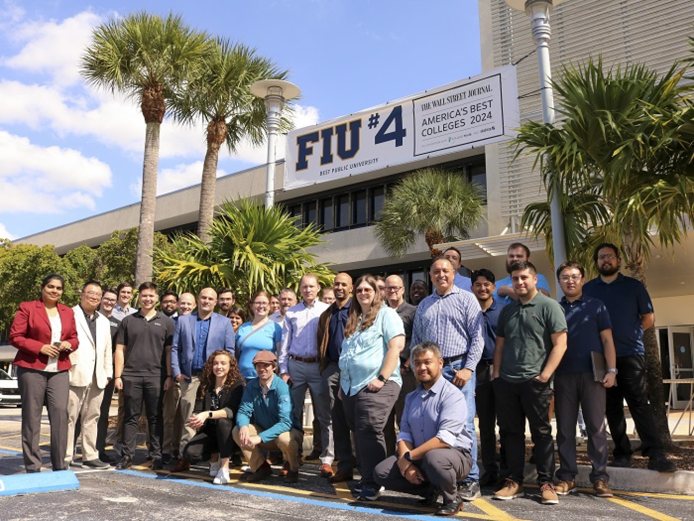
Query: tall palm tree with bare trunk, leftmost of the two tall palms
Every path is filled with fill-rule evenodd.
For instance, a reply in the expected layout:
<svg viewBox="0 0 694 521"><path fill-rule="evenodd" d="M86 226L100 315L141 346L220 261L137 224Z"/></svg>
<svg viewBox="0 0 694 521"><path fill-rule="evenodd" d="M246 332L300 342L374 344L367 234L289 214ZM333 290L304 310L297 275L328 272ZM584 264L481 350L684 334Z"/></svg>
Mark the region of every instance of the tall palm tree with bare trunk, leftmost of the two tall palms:
<svg viewBox="0 0 694 521"><path fill-rule="evenodd" d="M208 49L208 36L187 26L180 16L162 19L142 11L97 27L82 58L81 74L87 83L135 99L146 124L136 284L152 274L159 133L167 98L191 76Z"/></svg>

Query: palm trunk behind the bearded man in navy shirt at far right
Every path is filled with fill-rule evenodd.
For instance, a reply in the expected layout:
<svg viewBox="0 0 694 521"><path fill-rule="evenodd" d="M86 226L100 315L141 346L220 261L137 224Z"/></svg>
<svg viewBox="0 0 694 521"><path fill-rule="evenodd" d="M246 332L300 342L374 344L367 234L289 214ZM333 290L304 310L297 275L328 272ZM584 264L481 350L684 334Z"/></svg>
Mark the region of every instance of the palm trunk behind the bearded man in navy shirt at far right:
<svg viewBox="0 0 694 521"><path fill-rule="evenodd" d="M634 279L646 285L644 276L644 258L641 248L628 245L625 242L627 253L627 268ZM663 394L663 369L660 363L660 352L658 339L656 338L655 326L643 331L643 347L645 349L646 360L646 384L648 385L648 401L653 411L653 421L656 429L660 433L660 440L666 450L672 449L672 436L668 426L668 409Z"/></svg>

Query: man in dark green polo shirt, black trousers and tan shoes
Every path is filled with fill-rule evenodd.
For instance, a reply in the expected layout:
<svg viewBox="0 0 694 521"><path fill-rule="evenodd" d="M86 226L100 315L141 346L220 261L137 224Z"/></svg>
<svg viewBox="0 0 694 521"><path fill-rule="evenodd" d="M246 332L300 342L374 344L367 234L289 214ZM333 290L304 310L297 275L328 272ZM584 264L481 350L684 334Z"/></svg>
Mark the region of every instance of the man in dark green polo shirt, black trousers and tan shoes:
<svg viewBox="0 0 694 521"><path fill-rule="evenodd" d="M552 374L566 352L566 318L557 301L537 289L532 263L511 266L518 300L502 309L496 326L493 386L509 476L494 499L523 495L525 420L535 444L537 482L543 504L557 504L553 483L555 447L550 425Z"/></svg>

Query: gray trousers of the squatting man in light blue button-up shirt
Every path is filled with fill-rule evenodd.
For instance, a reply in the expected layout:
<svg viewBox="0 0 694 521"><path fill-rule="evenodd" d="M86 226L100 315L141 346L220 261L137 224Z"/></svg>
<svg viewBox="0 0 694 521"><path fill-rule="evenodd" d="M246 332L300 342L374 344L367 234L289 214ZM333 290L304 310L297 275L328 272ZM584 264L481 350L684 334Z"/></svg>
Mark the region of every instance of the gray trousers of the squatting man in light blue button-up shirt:
<svg viewBox="0 0 694 521"><path fill-rule="evenodd" d="M400 474L397 456L390 456L376 465L373 479L385 488L405 494L426 496L432 487L438 488L443 495L443 504L448 504L456 501L457 483L468 476L473 459L469 452L449 448L430 450L413 463L424 474L425 481L421 484L410 483Z"/></svg>

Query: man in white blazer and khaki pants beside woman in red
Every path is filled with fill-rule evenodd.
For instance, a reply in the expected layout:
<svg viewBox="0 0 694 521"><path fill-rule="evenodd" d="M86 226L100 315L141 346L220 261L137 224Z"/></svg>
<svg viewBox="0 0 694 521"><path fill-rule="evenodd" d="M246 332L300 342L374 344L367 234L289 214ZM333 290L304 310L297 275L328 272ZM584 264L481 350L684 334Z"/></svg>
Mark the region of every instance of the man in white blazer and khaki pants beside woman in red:
<svg viewBox="0 0 694 521"><path fill-rule="evenodd" d="M96 311L101 303L101 285L90 281L82 288L80 304L73 308L80 347L70 355L70 392L68 400L66 467L72 463L75 447L75 425L81 415L82 465L108 468L99 459L96 431L101 414L103 390L113 377L111 325Z"/></svg>

